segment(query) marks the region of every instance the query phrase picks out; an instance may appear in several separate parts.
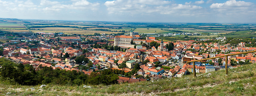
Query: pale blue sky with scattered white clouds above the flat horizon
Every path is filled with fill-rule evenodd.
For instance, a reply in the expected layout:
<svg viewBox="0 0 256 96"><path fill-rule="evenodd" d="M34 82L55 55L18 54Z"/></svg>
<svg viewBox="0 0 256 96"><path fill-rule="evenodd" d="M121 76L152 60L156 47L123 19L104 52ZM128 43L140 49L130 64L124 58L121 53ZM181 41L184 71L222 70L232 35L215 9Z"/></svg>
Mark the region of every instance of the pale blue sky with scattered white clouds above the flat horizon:
<svg viewBox="0 0 256 96"><path fill-rule="evenodd" d="M0 18L256 23L256 0L0 0Z"/></svg>

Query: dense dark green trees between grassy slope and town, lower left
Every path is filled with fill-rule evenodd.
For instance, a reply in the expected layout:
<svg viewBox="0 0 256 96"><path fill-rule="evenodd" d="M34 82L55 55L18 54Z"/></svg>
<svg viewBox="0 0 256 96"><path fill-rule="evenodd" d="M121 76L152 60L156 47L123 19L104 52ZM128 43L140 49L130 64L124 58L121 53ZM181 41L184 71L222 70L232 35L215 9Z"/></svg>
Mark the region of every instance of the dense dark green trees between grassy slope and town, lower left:
<svg viewBox="0 0 256 96"><path fill-rule="evenodd" d="M42 67L41 65L35 69L32 65L16 64L10 60L0 58L0 80L8 81L13 84L21 85L37 85L37 84L59 84L59 85L110 85L116 84L118 71L112 69L102 70L101 72L92 72L90 75L84 72L66 71L52 67ZM116 73L116 74L115 74Z"/></svg>

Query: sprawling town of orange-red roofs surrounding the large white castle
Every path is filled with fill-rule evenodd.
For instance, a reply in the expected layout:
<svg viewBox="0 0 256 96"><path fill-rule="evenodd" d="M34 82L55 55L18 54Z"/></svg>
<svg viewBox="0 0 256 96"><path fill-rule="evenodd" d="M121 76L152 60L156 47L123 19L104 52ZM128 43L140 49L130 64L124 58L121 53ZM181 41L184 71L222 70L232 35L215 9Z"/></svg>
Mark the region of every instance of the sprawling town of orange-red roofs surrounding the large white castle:
<svg viewBox="0 0 256 96"><path fill-rule="evenodd" d="M164 42L133 31L130 35L95 36L38 32L31 36L15 38L0 46L3 48L1 58L18 64L30 64L35 69L46 66L67 71L75 70L87 75L111 69L117 71L118 83L179 78L194 71L192 63L186 63L188 61L256 49L246 47L245 42L235 46L229 43L202 43L207 40L225 41L226 37ZM253 53L240 54L228 56L227 64L228 68L235 68L255 61ZM224 57L196 62L195 71L208 73L222 70L225 69L225 64Z"/></svg>

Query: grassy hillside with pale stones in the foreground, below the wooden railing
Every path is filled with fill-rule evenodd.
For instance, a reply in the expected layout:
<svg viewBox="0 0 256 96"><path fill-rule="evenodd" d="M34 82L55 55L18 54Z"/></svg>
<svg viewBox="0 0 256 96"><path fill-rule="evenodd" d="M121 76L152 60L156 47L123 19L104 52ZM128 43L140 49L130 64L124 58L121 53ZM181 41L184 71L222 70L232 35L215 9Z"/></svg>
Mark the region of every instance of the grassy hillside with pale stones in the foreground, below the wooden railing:
<svg viewBox="0 0 256 96"><path fill-rule="evenodd" d="M20 86L0 82L0 95L10 96L222 96L222 95L256 95L256 64L248 64L238 68L211 72L210 74L197 74L183 76L183 78L169 78L132 84L114 84L111 86L58 86L46 85ZM87 85L90 86L90 85Z"/></svg>

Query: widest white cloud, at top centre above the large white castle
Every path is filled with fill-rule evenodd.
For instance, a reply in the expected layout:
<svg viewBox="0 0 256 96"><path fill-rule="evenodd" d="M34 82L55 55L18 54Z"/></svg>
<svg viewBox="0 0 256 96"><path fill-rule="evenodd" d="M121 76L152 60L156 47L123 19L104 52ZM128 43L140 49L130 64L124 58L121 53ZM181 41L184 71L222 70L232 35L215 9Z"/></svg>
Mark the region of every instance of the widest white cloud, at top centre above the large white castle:
<svg viewBox="0 0 256 96"><path fill-rule="evenodd" d="M167 4L166 4L167 3ZM170 4L164 0L115 0L105 2L109 14L175 14L178 16L196 15L193 10L202 9L201 6L190 5L191 2L183 4Z"/></svg>

